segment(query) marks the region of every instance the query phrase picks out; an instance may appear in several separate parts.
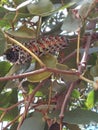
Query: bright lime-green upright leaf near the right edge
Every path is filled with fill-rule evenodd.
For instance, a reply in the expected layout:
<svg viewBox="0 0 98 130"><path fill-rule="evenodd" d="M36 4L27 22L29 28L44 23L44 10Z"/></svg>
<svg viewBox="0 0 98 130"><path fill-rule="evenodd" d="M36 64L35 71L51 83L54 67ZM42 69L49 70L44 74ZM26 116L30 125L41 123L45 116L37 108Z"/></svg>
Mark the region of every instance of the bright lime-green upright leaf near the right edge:
<svg viewBox="0 0 98 130"><path fill-rule="evenodd" d="M87 106L88 109L91 109L94 107L94 90L89 92L85 105Z"/></svg>

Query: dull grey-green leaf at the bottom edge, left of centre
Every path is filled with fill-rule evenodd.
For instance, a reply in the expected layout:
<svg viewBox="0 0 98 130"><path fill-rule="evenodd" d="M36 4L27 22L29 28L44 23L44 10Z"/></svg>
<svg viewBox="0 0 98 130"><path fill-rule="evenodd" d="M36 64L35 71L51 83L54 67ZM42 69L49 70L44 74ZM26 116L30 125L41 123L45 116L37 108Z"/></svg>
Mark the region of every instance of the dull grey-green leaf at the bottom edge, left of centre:
<svg viewBox="0 0 98 130"><path fill-rule="evenodd" d="M20 130L44 130L45 121L40 112L33 112L32 117L25 119Z"/></svg>

